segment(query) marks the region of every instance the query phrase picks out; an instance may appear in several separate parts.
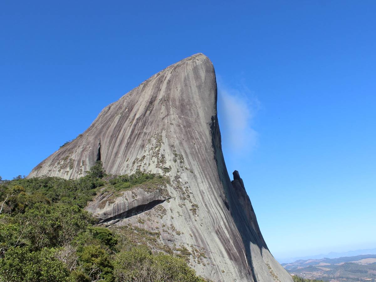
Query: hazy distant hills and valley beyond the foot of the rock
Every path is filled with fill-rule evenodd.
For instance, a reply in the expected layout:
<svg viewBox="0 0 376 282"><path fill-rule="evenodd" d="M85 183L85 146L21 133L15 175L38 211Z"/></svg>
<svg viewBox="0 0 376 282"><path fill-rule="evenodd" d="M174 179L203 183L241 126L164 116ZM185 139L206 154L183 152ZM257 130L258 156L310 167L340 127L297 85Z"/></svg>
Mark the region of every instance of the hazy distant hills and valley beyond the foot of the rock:
<svg viewBox="0 0 376 282"><path fill-rule="evenodd" d="M376 255L297 260L282 266L292 275L330 282L376 281Z"/></svg>

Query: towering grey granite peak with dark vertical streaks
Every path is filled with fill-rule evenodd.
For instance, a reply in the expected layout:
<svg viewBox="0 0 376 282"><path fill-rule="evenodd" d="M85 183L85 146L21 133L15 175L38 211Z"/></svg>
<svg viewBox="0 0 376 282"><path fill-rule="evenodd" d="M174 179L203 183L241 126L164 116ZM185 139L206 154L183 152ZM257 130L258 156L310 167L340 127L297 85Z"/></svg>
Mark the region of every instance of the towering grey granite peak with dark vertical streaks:
<svg viewBox="0 0 376 282"><path fill-rule="evenodd" d="M104 224L133 224L186 247L214 281L292 281L270 254L238 171L230 180L217 121L211 61L196 54L165 68L100 112L82 135L28 177L79 178L97 160L107 173L170 178L161 189L100 194L87 209Z"/></svg>

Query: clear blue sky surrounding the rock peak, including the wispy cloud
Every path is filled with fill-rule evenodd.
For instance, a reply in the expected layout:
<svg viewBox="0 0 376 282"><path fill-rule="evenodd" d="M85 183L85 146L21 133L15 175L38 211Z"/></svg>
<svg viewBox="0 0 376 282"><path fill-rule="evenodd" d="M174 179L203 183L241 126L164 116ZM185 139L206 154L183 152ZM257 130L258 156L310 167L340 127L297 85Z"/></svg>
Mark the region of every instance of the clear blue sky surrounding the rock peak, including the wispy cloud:
<svg viewBox="0 0 376 282"><path fill-rule="evenodd" d="M0 175L202 52L227 168L274 256L376 247L376 2L202 2L2 1Z"/></svg>

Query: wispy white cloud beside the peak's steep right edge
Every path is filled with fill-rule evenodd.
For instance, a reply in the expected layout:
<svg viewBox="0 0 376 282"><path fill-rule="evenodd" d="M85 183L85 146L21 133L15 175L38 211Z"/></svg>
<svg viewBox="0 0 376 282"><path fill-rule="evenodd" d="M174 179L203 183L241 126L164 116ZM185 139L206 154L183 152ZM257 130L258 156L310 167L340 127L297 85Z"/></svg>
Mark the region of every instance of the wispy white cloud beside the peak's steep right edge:
<svg viewBox="0 0 376 282"><path fill-rule="evenodd" d="M258 143L253 119L260 108L257 97L244 83L229 88L218 83L218 115L223 148L233 154L249 153Z"/></svg>

